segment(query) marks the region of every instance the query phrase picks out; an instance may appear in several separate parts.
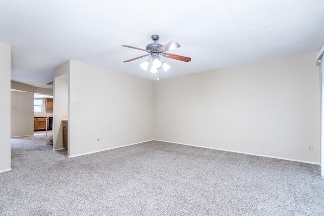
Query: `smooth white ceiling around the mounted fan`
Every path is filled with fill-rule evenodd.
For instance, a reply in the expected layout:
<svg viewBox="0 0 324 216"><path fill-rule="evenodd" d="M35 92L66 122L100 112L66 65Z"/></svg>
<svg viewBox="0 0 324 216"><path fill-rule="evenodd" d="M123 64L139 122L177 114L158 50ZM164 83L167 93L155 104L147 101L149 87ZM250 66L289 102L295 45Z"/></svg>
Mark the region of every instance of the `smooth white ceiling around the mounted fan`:
<svg viewBox="0 0 324 216"><path fill-rule="evenodd" d="M139 64L151 35L180 48L164 58L179 76L319 51L323 0L0 1L0 42L11 45L13 81L53 88L53 68L71 59L154 79ZM315 59L314 59L315 62Z"/></svg>

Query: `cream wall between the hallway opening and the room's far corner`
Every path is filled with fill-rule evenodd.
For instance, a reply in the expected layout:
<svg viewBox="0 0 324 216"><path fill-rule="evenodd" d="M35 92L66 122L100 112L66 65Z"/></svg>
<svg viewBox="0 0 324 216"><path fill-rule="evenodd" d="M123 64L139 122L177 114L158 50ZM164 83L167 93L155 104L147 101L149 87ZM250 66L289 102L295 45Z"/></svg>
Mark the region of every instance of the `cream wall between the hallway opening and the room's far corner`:
<svg viewBox="0 0 324 216"><path fill-rule="evenodd" d="M68 120L70 157L152 140L153 81L70 61Z"/></svg>

